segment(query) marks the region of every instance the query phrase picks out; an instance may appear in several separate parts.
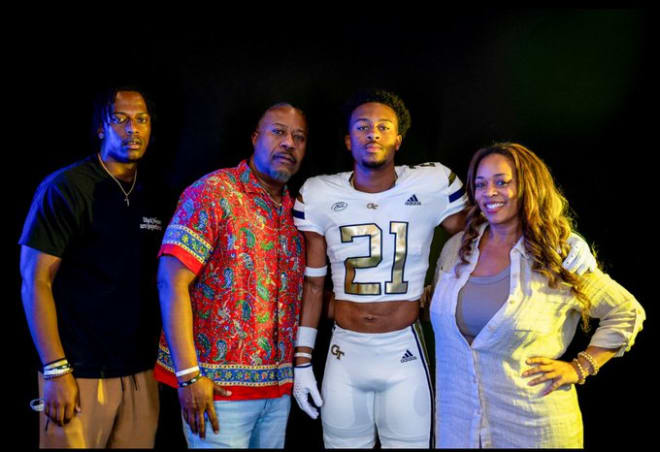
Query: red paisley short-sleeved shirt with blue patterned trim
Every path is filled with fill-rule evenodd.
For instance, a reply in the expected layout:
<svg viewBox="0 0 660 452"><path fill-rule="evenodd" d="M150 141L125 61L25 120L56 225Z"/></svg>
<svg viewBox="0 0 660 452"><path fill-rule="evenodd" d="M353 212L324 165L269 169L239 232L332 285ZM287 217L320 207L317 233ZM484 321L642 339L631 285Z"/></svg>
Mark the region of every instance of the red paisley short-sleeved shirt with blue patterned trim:
<svg viewBox="0 0 660 452"><path fill-rule="evenodd" d="M231 400L291 393L305 268L292 207L285 189L278 208L242 161L188 187L165 231L159 256L197 275L190 299L200 370ZM177 386L164 334L155 375Z"/></svg>

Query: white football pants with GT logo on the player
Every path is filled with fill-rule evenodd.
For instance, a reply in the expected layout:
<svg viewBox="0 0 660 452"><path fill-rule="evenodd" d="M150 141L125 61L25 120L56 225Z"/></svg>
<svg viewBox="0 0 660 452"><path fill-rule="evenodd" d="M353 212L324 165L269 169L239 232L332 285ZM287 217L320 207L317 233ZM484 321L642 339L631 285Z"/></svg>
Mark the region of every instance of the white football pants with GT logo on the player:
<svg viewBox="0 0 660 452"><path fill-rule="evenodd" d="M323 376L326 448L431 447L433 390L421 325L357 333L335 325Z"/></svg>

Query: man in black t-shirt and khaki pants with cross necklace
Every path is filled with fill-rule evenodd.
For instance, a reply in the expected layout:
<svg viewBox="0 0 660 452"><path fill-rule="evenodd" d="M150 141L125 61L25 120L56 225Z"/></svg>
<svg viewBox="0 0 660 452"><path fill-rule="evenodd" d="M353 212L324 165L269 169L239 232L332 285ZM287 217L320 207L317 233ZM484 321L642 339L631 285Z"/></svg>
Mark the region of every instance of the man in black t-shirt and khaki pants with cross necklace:
<svg viewBox="0 0 660 452"><path fill-rule="evenodd" d="M22 295L39 374L40 447L153 447L165 221L138 162L151 135L143 95L97 105L100 152L48 176L21 245Z"/></svg>

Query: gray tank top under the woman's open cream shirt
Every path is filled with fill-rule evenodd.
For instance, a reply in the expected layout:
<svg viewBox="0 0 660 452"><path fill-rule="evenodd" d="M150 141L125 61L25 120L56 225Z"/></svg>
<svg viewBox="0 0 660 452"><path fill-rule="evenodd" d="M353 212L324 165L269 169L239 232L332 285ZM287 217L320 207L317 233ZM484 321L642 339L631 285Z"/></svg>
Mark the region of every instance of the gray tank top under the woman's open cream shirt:
<svg viewBox="0 0 660 452"><path fill-rule="evenodd" d="M456 324L471 344L509 297L511 266L492 276L470 276L458 292Z"/></svg>

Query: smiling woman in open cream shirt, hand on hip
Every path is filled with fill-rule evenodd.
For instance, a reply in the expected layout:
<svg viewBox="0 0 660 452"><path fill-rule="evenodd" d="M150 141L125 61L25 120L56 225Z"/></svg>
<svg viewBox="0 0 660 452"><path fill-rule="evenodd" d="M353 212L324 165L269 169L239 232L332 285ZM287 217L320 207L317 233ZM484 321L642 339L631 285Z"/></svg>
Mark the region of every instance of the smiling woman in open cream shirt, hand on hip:
<svg viewBox="0 0 660 452"><path fill-rule="evenodd" d="M572 231L545 164L514 143L477 151L463 232L442 250L430 315L438 447L581 447L575 383L632 346L644 310L595 270L562 268ZM560 361L578 323L588 348Z"/></svg>

